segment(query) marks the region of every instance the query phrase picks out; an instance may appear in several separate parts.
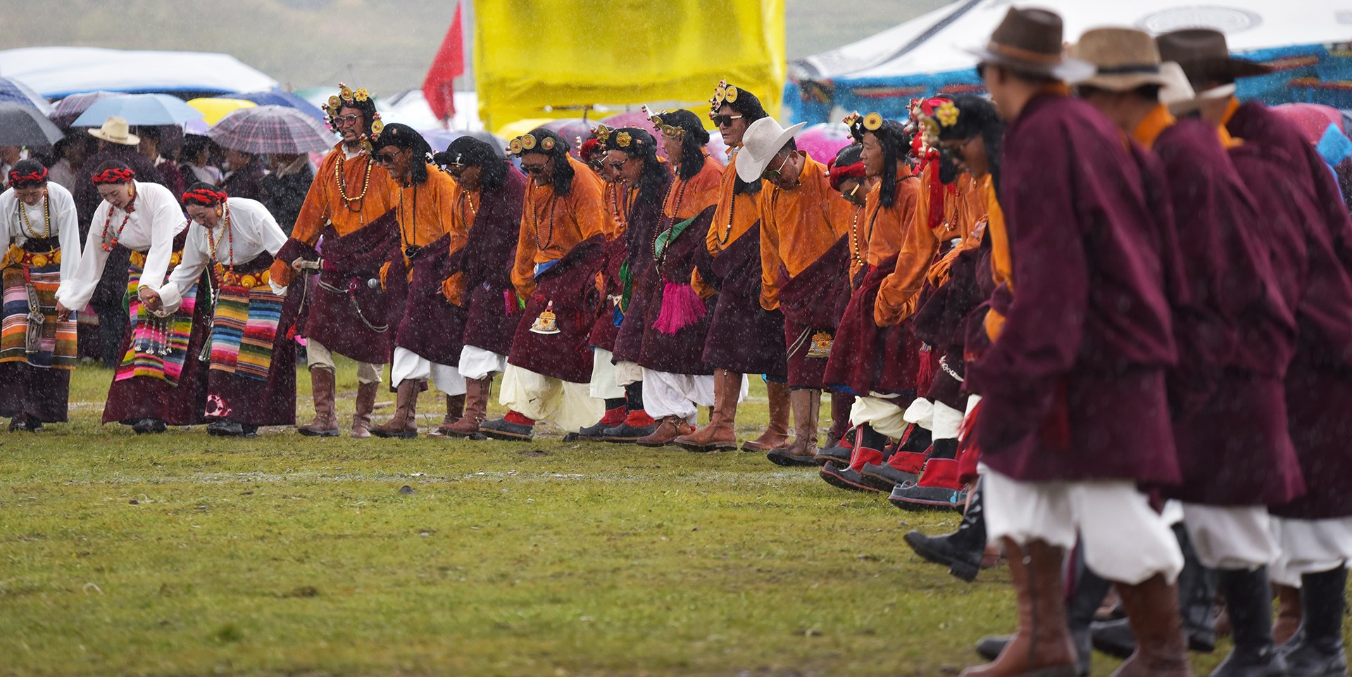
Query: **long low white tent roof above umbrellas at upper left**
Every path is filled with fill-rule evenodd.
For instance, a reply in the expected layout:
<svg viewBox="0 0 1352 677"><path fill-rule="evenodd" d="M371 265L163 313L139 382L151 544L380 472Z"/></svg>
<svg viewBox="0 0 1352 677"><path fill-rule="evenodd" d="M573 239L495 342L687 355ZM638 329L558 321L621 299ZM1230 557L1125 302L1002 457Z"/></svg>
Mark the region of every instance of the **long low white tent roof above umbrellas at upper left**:
<svg viewBox="0 0 1352 677"><path fill-rule="evenodd" d="M0 51L0 76L58 99L76 92L261 92L277 81L228 54L24 47Z"/></svg>

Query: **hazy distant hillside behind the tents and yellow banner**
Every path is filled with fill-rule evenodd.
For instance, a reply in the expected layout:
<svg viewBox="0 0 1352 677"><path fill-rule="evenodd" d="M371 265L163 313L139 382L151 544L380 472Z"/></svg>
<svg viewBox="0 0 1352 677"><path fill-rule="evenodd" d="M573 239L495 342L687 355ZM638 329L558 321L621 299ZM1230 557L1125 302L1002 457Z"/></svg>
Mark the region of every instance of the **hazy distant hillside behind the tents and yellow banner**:
<svg viewBox="0 0 1352 677"><path fill-rule="evenodd" d="M788 58L857 41L942 4L786 0ZM42 11L7 12L0 45L223 51L283 86L343 80L389 95L422 84L454 8L453 0L51 0Z"/></svg>

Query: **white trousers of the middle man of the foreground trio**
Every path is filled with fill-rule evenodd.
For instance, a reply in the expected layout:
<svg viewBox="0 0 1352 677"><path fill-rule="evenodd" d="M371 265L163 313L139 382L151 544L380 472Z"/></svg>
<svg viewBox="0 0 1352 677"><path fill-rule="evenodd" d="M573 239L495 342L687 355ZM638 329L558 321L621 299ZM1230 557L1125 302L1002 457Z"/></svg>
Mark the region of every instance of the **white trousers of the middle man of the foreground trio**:
<svg viewBox="0 0 1352 677"><path fill-rule="evenodd" d="M1279 554L1265 505L1184 503L1183 527L1207 569L1253 570Z"/></svg>

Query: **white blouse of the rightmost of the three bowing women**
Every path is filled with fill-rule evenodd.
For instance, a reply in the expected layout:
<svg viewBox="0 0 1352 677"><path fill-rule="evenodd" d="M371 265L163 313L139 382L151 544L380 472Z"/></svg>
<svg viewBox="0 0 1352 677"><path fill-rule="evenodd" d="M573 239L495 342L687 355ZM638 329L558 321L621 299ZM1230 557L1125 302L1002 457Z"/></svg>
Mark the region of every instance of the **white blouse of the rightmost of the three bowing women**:
<svg viewBox="0 0 1352 677"><path fill-rule="evenodd" d="M224 218L215 228L192 222L188 227L188 242L183 247L183 262L169 273L169 281L160 289L162 312L173 312L183 300L183 293L197 284L207 266L220 262L247 264L264 251L276 254L287 243L287 234L277 226L268 208L247 197L230 197L228 224ZM211 238L210 242L207 238ZM211 258L211 243L215 242L216 258ZM287 289L273 285L273 292L285 296Z"/></svg>

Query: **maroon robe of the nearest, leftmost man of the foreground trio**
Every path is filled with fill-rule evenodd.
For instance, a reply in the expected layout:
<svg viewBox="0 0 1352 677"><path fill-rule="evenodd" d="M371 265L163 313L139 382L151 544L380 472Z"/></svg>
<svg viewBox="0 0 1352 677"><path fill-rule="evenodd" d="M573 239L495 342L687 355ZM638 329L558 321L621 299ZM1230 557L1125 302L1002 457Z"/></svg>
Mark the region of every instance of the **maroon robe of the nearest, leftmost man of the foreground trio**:
<svg viewBox="0 0 1352 677"><path fill-rule="evenodd" d="M968 385L982 461L1021 481L1176 484L1176 349L1164 235L1121 132L1038 95L1006 131L1000 205L1015 289Z"/></svg>

